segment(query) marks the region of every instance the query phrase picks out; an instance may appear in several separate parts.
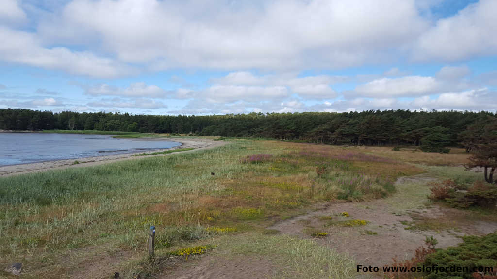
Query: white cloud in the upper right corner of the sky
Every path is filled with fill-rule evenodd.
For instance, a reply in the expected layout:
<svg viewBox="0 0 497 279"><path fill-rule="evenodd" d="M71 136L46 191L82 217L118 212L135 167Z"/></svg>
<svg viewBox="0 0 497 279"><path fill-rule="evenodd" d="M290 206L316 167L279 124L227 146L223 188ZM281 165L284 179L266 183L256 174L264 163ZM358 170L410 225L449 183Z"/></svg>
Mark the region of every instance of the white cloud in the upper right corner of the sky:
<svg viewBox="0 0 497 279"><path fill-rule="evenodd" d="M480 0L442 18L424 32L415 48L418 60L460 61L497 54L497 1Z"/></svg>

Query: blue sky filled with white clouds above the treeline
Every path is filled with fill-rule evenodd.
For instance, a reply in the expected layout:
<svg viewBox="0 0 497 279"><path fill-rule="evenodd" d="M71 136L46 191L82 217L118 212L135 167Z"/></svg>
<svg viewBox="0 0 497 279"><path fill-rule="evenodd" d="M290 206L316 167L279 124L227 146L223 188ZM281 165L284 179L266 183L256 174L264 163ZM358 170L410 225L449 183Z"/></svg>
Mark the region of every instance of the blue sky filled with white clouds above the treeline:
<svg viewBox="0 0 497 279"><path fill-rule="evenodd" d="M0 6L0 108L497 111L497 0Z"/></svg>

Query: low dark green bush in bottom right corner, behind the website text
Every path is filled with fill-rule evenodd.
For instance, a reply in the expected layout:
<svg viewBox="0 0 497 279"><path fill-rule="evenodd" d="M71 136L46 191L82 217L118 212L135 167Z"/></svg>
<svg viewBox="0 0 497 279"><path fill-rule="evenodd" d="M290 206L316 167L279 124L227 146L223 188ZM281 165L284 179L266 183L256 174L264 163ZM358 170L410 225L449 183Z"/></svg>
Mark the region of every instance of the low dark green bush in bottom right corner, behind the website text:
<svg viewBox="0 0 497 279"><path fill-rule="evenodd" d="M465 236L463 243L456 247L437 250L426 257L425 267L437 266L438 272L428 273L427 279L472 279L472 271L476 267L497 267L497 232L483 237ZM440 268L467 268L469 272L444 271Z"/></svg>

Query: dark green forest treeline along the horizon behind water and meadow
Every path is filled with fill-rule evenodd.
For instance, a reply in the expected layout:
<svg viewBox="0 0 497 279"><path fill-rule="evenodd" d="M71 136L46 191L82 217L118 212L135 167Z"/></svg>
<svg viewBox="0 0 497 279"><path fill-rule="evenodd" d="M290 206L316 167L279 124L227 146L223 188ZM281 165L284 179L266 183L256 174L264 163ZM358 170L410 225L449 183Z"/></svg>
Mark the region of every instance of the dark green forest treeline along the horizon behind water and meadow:
<svg viewBox="0 0 497 279"><path fill-rule="evenodd" d="M437 133L456 145L468 126L484 125L496 117L490 112L409 110L161 116L0 109L0 129L178 133L364 145L418 145L423 137Z"/></svg>

